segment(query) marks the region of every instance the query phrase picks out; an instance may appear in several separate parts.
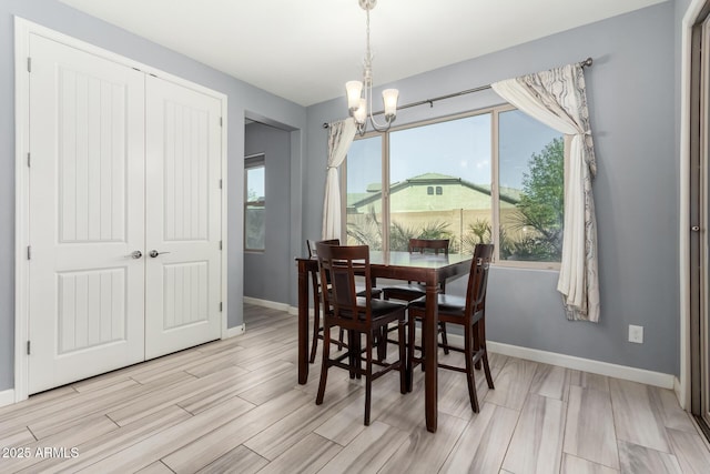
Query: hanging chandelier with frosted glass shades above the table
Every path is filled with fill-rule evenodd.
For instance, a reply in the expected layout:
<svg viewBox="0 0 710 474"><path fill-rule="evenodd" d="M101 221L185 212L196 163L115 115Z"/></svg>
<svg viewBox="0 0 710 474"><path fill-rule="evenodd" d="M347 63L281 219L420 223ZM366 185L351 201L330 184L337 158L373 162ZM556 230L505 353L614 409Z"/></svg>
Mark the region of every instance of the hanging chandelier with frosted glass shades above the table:
<svg viewBox="0 0 710 474"><path fill-rule="evenodd" d="M345 83L347 94L347 108L351 117L357 123L357 131L362 135L367 130L367 115L372 128L378 132L389 129L397 115L397 98L399 91L396 89L385 89L382 91L382 100L385 105L385 122L377 123L373 117L373 54L369 50L369 10L375 8L377 0L358 0L359 6L367 13L367 42L365 50L364 70L362 81L348 81Z"/></svg>

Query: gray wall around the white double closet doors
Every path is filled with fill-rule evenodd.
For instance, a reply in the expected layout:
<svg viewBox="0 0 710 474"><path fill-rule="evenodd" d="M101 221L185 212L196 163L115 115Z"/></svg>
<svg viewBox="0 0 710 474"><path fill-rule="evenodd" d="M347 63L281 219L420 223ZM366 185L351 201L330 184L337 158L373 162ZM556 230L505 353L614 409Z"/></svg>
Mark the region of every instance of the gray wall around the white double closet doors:
<svg viewBox="0 0 710 474"><path fill-rule="evenodd" d="M301 167L305 155L306 110L148 40L73 10L57 0L0 1L0 391L14 385L14 27L13 16L93 43L227 95L229 147L229 326L243 322L243 173L244 117L270 119L291 130L293 219L284 239L301 234ZM294 240L300 242L301 239ZM294 243L294 245L300 245ZM300 246L291 250L300 252ZM294 266L294 265L292 265ZM294 266L295 269L295 266ZM295 270L293 281L295 282ZM287 290L284 290L287 292Z"/></svg>

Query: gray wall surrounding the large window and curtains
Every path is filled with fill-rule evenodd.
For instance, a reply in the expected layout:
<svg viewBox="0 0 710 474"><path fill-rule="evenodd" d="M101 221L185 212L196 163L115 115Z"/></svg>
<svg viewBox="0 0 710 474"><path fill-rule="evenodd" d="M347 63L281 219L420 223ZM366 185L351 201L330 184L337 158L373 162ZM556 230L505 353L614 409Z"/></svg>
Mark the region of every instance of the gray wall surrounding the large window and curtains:
<svg viewBox="0 0 710 474"><path fill-rule="evenodd" d="M679 373L674 14L672 2L661 3L388 84L399 89L404 104L595 60L586 82L598 159L601 321L566 320L555 290L557 272L495 268L489 340ZM375 63L386 67L386 58ZM402 111L396 124L500 102L494 92L481 92ZM345 114L344 99L308 108L306 235L317 235L322 219L326 132L321 125ZM459 280L447 291L462 288ZM627 342L629 324L645 326L643 344Z"/></svg>

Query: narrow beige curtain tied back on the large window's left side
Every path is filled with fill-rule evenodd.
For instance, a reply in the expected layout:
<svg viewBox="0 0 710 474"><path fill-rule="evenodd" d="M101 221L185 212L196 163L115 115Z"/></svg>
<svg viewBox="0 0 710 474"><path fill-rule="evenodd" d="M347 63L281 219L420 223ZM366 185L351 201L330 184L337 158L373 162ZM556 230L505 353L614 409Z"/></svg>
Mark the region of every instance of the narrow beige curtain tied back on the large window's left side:
<svg viewBox="0 0 710 474"><path fill-rule="evenodd" d="M328 125L328 167L325 177L322 238L341 239L341 190L337 169L345 160L357 125L353 118Z"/></svg>

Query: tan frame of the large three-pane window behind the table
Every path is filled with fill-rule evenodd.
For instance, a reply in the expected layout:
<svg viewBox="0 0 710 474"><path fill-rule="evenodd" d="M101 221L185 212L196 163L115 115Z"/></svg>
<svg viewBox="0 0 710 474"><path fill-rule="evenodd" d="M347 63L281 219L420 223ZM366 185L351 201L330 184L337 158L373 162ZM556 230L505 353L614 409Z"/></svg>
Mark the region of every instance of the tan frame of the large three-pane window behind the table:
<svg viewBox="0 0 710 474"><path fill-rule="evenodd" d="M426 127L436 123L449 122L459 119L466 119L469 117L490 114L490 222L493 226L493 241L499 242L500 240L500 195L498 189L499 182L499 115L504 112L509 112L518 110L514 105L504 103L498 105L491 105L487 108L481 108L468 112L455 113L450 115L443 115L434 119L426 119L416 122L410 122L406 124L402 124L398 127L392 127L389 130L385 132L377 131L368 131L363 135L356 135L355 140L366 140L376 135L382 135L382 234L383 234L383 245L388 245L389 242L389 134L393 132L416 129L420 127ZM341 167L341 203L342 203L342 215L346 214L346 202L347 202L347 157L343 165ZM435 191L436 192L436 191ZM347 219L343 219L341 222L341 234L347 235ZM513 268L513 269L528 269L528 270L551 270L559 271L561 262L534 262L534 261L525 261L525 260L500 260L499 246L495 246L494 251L494 264L496 266L501 268Z"/></svg>

